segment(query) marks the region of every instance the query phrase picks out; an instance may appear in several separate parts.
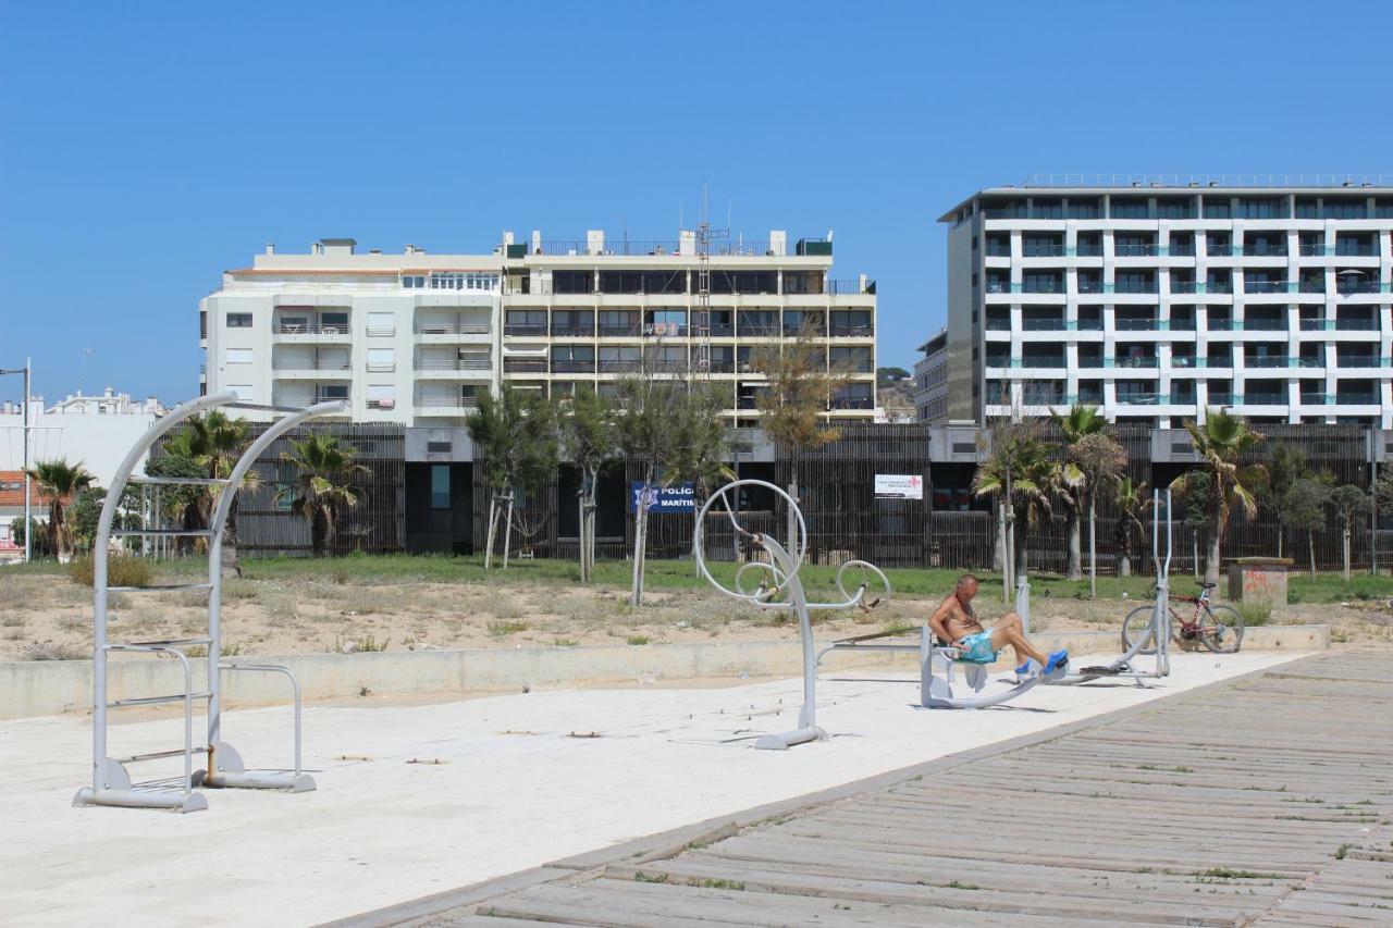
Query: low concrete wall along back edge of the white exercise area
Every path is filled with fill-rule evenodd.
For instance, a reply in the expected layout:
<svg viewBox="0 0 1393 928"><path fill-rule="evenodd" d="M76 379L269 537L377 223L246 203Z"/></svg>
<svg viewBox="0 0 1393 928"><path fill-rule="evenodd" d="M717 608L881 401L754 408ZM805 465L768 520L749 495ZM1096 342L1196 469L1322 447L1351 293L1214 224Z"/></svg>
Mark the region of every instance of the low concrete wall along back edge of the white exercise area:
<svg viewBox="0 0 1393 928"><path fill-rule="evenodd" d="M1050 649L1071 654L1116 654L1116 631L1060 631L1036 635ZM1330 647L1329 626L1268 626L1250 628L1244 649L1316 651ZM596 645L582 648L490 648L479 651L386 651L373 654L312 654L267 658L238 656L244 663L290 667L306 702L362 695L423 693L518 693L524 687L557 688L614 683L779 677L801 673L797 640L671 645ZM848 667L914 667L911 654L833 652L829 672ZM194 687L203 688L206 660L195 660ZM230 704L290 701L290 683L280 674L224 673ZM113 699L181 691L182 673L173 659L124 659L110 665ZM92 705L92 662L53 660L0 663L0 719L61 712L86 712Z"/></svg>

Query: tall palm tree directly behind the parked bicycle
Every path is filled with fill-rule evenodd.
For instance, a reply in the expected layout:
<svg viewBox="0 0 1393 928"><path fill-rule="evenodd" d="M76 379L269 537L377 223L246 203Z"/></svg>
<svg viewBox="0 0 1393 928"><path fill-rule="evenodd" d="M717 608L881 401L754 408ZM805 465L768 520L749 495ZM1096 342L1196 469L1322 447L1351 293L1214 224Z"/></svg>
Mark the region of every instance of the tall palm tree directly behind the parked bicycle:
<svg viewBox="0 0 1393 928"><path fill-rule="evenodd" d="M1190 443L1199 456L1199 467L1177 477L1170 488L1184 496L1198 475L1209 481L1206 507L1209 525L1209 555L1205 562L1205 582L1219 582L1219 556L1229 514L1234 506L1252 518L1258 511L1255 493L1266 482L1268 471L1261 464L1244 467L1243 456L1262 442L1263 436L1248 428L1241 417L1224 410L1205 410L1204 422L1185 422Z"/></svg>

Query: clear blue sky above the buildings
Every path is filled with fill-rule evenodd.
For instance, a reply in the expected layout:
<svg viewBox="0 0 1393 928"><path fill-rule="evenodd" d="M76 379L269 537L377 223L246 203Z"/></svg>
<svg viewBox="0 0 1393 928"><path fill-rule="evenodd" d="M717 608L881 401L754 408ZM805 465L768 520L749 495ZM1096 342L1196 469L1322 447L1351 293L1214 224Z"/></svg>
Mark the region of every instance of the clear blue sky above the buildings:
<svg viewBox="0 0 1393 928"><path fill-rule="evenodd" d="M187 399L198 300L267 241L670 238L702 184L748 237L836 230L910 366L981 187L1393 171L1389 35L1386 3L0 0L0 366Z"/></svg>

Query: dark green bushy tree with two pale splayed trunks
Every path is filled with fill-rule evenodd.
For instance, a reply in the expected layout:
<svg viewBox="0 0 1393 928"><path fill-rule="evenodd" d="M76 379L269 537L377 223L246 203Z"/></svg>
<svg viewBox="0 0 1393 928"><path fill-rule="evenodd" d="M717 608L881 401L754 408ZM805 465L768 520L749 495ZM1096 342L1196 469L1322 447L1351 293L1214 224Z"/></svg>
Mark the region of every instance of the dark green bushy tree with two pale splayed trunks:
<svg viewBox="0 0 1393 928"><path fill-rule="evenodd" d="M492 567L493 542L501 518L503 569L507 570L514 493L539 486L556 474L560 461L556 407L540 392L518 390L504 383L497 396L488 390L479 393L479 407L469 412L464 424L474 439L475 460L483 467L483 485L489 488L483 569Z"/></svg>

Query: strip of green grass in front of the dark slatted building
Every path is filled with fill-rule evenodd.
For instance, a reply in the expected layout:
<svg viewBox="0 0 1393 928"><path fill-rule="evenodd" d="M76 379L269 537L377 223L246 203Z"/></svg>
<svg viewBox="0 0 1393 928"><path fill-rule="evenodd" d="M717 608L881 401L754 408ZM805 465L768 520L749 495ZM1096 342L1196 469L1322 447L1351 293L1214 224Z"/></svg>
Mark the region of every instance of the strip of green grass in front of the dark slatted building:
<svg viewBox="0 0 1393 928"><path fill-rule="evenodd" d="M450 555L348 555L347 557L332 557L315 560L312 557L242 557L242 577L249 581L318 581L336 585L378 585L378 584L410 584L410 582L440 582L440 584L499 584L499 585L570 585L579 581L579 569L571 560L517 560L508 569L483 571L482 556L450 556ZM723 584L730 585L734 580L736 566L726 563L710 564L712 573ZM7 575L53 575L65 573L65 567L56 562L36 562L33 564L17 564L6 567ZM623 560L602 560L595 564L595 585L599 588L627 589L630 585L631 566ZM208 562L203 557L182 557L170 562L160 562L156 567L159 581L176 581L178 578L192 578L206 575ZM896 596L935 598L943 596L953 587L958 570L950 569L886 569L886 577L894 587ZM834 591L834 567L807 564L800 571L809 595L815 591L830 594ZM982 596L990 601L1002 598L1002 578L999 574L978 571L982 581ZM1123 594L1131 601L1145 602L1152 594L1151 577L1099 577L1099 599L1121 599ZM696 575L688 560L649 560L646 589L701 589L706 581ZM1293 573L1289 580L1291 602L1321 605L1347 602L1355 599L1385 599L1393 598L1393 577L1355 575L1348 584L1339 573L1308 574ZM1192 577L1176 575L1172 578L1172 592L1181 596L1194 595L1199 591ZM1088 595L1088 581L1064 580L1056 574L1036 574L1031 577L1031 595L1036 599L1071 599ZM818 596L814 596L818 598Z"/></svg>

